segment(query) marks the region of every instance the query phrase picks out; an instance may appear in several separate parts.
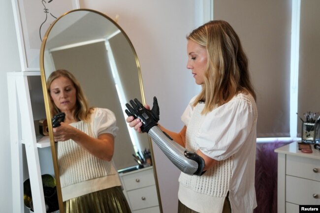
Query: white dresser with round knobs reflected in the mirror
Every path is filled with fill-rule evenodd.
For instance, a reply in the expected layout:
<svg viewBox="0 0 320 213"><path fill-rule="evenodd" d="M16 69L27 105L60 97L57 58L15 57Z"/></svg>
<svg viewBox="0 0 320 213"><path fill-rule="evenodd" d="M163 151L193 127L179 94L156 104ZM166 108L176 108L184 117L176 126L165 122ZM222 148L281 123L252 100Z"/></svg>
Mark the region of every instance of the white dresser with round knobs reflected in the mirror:
<svg viewBox="0 0 320 213"><path fill-rule="evenodd" d="M119 175L132 213L160 213L152 166Z"/></svg>

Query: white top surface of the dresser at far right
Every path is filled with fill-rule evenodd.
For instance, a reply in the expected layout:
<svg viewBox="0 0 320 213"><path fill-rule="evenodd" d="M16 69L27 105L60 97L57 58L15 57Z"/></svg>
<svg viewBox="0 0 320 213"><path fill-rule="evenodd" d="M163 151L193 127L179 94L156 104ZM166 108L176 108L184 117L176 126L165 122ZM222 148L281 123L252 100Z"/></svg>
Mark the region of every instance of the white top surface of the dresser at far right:
<svg viewBox="0 0 320 213"><path fill-rule="evenodd" d="M309 158L314 158L314 159L320 160L320 151L316 150L314 148L313 144L310 144L313 152L312 153L304 153L298 149L298 142L300 142L300 141L292 142L286 146L280 147L280 148L276 149L275 152L297 155L300 157L309 157Z"/></svg>

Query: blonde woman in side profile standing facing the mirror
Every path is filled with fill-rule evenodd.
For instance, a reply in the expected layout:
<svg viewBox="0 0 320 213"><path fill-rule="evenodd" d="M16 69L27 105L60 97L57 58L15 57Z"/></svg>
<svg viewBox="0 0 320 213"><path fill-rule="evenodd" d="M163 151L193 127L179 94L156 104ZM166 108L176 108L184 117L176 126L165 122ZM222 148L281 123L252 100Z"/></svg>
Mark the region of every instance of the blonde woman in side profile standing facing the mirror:
<svg viewBox="0 0 320 213"><path fill-rule="evenodd" d="M252 213L256 208L257 109L247 57L238 35L225 21L210 21L193 30L187 40L187 68L202 90L182 114L185 125L179 133L155 124L188 151L184 161L197 162L193 174L175 164L182 171L178 213ZM144 118L135 116L139 107L130 103L129 126L139 132L146 126L149 130ZM158 122L154 108L145 106L149 118ZM162 147L164 141L157 145Z"/></svg>

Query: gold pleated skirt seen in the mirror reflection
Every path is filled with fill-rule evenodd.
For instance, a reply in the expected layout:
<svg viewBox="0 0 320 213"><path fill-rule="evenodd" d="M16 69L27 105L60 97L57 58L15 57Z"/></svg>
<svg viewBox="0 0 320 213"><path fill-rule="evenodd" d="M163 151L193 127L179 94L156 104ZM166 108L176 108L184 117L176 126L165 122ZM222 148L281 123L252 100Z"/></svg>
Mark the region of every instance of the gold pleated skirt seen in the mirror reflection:
<svg viewBox="0 0 320 213"><path fill-rule="evenodd" d="M103 189L64 202L65 213L131 213L121 186Z"/></svg>

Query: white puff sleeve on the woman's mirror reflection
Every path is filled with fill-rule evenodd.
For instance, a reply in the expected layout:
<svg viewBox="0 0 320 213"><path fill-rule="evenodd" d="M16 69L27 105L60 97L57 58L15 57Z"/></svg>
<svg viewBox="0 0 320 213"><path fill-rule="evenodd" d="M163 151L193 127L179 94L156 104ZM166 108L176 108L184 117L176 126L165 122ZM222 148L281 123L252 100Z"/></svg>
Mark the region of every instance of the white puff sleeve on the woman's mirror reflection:
<svg viewBox="0 0 320 213"><path fill-rule="evenodd" d="M110 133L116 137L118 132L116 117L109 109L95 108L93 118L93 132L98 137L103 133Z"/></svg>

